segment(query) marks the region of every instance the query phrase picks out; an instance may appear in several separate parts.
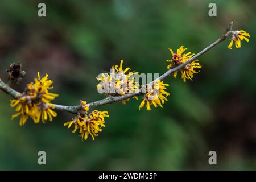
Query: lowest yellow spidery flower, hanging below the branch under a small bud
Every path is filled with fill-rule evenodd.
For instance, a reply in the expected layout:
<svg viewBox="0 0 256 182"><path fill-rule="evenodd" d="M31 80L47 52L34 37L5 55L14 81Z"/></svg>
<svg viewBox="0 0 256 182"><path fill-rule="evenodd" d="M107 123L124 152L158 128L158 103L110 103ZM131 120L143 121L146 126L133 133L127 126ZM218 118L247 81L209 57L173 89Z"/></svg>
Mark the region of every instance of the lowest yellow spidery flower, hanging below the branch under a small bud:
<svg viewBox="0 0 256 182"><path fill-rule="evenodd" d="M64 123L64 126L70 128L74 125L72 133L76 133L79 130L82 141L88 139L88 135L92 137L98 136L98 133L102 131L102 127L105 127L105 117L109 117L108 111L94 110L90 114L86 114L84 117L76 117L72 121Z"/></svg>

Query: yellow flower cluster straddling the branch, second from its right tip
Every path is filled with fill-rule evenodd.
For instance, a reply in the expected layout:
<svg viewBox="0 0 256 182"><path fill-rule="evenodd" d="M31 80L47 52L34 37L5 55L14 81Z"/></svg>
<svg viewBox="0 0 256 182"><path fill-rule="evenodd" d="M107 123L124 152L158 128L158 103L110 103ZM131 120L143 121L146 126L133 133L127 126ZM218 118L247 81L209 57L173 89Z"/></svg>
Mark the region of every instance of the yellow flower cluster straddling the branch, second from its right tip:
<svg viewBox="0 0 256 182"><path fill-rule="evenodd" d="M184 48L184 46L180 46L179 49L177 49L177 53L174 53L172 49L169 49L172 54L172 59L167 60L167 62L171 62L167 66L167 69L170 69L172 67L175 67L175 65L180 65L182 63L185 63L187 60L191 59L195 54L192 52L184 53L184 51L187 51L187 48ZM192 80L193 73L199 73L200 71L196 71L195 68L201 68L202 66L198 62L199 60L195 60L192 63L187 64L184 68L180 69L181 72L181 79L185 82L187 79ZM177 73L179 71L174 72L174 77L177 77Z"/></svg>

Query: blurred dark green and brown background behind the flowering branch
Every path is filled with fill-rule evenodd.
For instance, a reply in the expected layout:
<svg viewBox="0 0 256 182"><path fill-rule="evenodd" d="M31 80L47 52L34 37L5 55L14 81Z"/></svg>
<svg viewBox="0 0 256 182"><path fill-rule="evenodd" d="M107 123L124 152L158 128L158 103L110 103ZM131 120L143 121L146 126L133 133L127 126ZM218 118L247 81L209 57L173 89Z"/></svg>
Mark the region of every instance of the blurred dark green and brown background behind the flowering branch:
<svg viewBox="0 0 256 182"><path fill-rule="evenodd" d="M47 17L38 17L44 2ZM208 16L210 2L217 17ZM13 88L22 92L36 73L54 80L55 103L100 100L96 76L113 64L141 73L166 72L168 48L199 52L233 20L250 32L250 42L229 50L229 41L200 57L193 81L170 77L164 108L138 110L131 100L97 107L110 118L94 142L81 142L63 126L73 116L19 126L10 97L0 92L0 169L191 170L256 169L255 1L0 1L0 76L20 62L27 76ZM140 98L141 100L141 98ZM38 151L47 165L38 165ZM208 152L217 152L217 165Z"/></svg>

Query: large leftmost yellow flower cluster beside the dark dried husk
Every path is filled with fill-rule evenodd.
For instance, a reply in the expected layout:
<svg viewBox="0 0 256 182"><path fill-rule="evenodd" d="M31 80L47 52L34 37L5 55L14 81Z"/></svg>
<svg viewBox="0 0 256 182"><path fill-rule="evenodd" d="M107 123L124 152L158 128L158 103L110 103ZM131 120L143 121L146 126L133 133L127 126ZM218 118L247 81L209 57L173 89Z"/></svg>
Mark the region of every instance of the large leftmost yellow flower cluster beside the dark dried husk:
<svg viewBox="0 0 256 182"><path fill-rule="evenodd" d="M52 121L52 117L56 117L57 113L53 111L54 105L51 101L58 96L58 94L50 93L48 89L52 89L52 80L48 80L48 75L40 78L35 78L35 82L27 85L26 90L18 99L11 100L11 107L16 107L16 114L12 115L12 119L20 117L19 125L26 123L28 117L32 118L35 123L39 123L40 119L45 123L48 119Z"/></svg>

